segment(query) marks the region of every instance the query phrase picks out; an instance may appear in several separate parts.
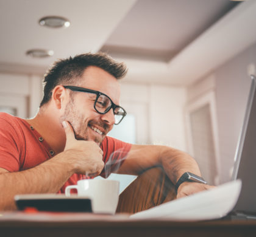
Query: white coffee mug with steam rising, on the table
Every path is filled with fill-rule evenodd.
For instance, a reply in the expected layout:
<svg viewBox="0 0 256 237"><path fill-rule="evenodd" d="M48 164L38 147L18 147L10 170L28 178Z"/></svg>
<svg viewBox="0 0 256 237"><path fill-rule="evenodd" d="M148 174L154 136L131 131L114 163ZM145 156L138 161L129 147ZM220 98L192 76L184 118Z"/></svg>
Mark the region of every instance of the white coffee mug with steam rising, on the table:
<svg viewBox="0 0 256 237"><path fill-rule="evenodd" d="M119 198L119 181L107 179L82 179L77 185L66 187L65 194L70 196L70 190L76 189L78 196L91 199L94 213L115 214Z"/></svg>

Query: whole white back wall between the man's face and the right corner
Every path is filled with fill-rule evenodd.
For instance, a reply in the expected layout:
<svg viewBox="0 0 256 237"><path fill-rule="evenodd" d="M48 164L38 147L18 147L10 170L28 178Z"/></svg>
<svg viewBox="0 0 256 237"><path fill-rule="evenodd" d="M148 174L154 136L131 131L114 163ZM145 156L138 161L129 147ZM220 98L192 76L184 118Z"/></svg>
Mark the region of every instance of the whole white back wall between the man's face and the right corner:
<svg viewBox="0 0 256 237"><path fill-rule="evenodd" d="M185 88L121 82L121 105L137 118L137 143L187 150Z"/></svg>

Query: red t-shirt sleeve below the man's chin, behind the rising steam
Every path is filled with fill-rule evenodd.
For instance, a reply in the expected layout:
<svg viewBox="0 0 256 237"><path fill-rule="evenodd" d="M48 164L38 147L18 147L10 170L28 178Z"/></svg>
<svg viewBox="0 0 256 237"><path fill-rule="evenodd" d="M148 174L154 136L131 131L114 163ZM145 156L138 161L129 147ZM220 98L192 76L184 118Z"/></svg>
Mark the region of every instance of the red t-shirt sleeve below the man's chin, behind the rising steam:
<svg viewBox="0 0 256 237"><path fill-rule="evenodd" d="M132 144L122 142L121 140L114 139L113 137L105 137L102 142L101 149L104 153L103 161L105 163L101 176L108 177L119 169L127 154L130 151Z"/></svg>

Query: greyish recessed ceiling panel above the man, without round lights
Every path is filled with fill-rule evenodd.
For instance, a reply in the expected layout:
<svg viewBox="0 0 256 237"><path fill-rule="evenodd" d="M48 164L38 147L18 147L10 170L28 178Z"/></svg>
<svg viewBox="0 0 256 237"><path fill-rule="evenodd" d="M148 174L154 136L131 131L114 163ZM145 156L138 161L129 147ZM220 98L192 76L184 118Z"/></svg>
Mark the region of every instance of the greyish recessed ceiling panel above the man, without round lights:
<svg viewBox="0 0 256 237"><path fill-rule="evenodd" d="M139 0L102 50L167 62L236 4L228 0Z"/></svg>

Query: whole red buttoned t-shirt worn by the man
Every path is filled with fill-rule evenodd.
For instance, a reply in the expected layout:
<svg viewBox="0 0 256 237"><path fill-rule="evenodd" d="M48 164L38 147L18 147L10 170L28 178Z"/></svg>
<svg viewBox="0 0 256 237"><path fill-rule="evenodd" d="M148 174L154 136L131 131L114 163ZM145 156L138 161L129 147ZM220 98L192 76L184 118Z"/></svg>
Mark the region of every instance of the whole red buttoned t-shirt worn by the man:
<svg viewBox="0 0 256 237"><path fill-rule="evenodd" d="M130 151L130 143L105 137L101 144L105 168L102 176L118 169ZM53 157L53 150L40 134L25 120L0 112L0 167L10 172L27 170ZM109 164L109 165L108 165ZM67 185L85 179L83 174L73 174L59 193L65 193Z"/></svg>

